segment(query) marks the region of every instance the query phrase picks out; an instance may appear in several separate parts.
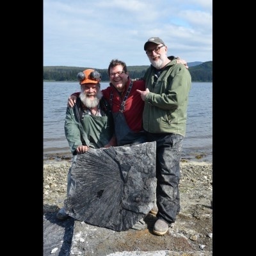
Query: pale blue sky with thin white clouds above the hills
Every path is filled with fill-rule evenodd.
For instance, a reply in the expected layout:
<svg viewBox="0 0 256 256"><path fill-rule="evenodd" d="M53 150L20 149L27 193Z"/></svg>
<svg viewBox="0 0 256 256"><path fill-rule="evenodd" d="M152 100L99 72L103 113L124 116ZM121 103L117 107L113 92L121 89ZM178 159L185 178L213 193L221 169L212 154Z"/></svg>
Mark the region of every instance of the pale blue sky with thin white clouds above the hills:
<svg viewBox="0 0 256 256"><path fill-rule="evenodd" d="M44 0L44 66L150 65L158 36L168 56L212 61L212 0Z"/></svg>

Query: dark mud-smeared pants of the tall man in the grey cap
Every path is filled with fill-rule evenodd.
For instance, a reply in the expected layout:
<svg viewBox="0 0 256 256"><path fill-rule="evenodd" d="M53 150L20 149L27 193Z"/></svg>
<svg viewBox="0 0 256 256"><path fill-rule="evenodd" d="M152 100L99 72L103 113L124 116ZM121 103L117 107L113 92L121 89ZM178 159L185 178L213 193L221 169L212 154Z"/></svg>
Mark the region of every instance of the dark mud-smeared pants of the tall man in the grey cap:
<svg viewBox="0 0 256 256"><path fill-rule="evenodd" d="M156 141L156 216L170 224L180 211L180 157L184 136L146 133L149 142Z"/></svg>

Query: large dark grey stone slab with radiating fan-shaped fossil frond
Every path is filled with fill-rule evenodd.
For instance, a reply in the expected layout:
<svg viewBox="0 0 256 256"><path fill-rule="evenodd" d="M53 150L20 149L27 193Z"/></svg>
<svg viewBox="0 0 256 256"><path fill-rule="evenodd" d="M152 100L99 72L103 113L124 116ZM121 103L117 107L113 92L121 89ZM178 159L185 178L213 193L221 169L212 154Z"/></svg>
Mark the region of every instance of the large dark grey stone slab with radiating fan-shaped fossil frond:
<svg viewBox="0 0 256 256"><path fill-rule="evenodd" d="M90 149L77 156L71 177L74 193L65 207L76 220L128 230L154 205L156 141Z"/></svg>

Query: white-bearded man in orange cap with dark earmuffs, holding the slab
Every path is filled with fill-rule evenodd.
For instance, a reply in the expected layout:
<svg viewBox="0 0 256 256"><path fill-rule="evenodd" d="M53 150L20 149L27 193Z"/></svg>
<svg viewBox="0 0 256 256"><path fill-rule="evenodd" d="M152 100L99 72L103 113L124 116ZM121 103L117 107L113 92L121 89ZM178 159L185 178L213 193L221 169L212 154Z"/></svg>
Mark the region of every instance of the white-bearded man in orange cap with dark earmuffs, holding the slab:
<svg viewBox="0 0 256 256"><path fill-rule="evenodd" d="M72 164L77 154L84 154L90 148L115 146L113 116L108 102L100 91L100 73L86 69L77 74L81 93L73 108L67 107L65 118L65 136L72 152ZM67 195L72 194L71 167L67 176ZM59 220L68 218L65 208L57 213Z"/></svg>

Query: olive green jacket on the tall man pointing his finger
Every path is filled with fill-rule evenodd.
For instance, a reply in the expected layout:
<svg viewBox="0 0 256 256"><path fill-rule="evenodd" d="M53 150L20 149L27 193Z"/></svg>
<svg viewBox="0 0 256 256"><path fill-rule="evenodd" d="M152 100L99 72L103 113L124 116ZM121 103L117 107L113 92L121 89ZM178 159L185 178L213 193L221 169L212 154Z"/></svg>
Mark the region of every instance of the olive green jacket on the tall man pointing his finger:
<svg viewBox="0 0 256 256"><path fill-rule="evenodd" d="M150 65L143 77L150 91L145 98L143 128L185 136L191 75L183 64L172 60L154 83L155 70Z"/></svg>

